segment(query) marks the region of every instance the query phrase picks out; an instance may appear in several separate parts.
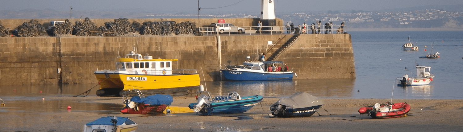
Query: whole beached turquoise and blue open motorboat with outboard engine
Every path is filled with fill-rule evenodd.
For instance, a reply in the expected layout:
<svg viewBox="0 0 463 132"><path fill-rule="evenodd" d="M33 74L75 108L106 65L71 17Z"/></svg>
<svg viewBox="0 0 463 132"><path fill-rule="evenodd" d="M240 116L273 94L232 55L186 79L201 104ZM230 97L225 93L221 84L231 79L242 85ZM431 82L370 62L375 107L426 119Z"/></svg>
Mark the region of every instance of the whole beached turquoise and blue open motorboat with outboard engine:
<svg viewBox="0 0 463 132"><path fill-rule="evenodd" d="M215 97L211 96L211 93L207 91L198 93L200 96L197 99L197 103L190 103L188 108L203 115L243 113L257 105L263 99L260 95L241 97L236 92Z"/></svg>

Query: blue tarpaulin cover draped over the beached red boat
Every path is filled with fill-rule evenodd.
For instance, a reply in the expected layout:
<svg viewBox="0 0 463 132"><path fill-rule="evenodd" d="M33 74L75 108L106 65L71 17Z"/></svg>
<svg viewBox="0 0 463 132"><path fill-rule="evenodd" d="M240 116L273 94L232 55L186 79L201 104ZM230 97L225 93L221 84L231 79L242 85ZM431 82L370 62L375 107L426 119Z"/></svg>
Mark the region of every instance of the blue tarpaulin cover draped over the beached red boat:
<svg viewBox="0 0 463 132"><path fill-rule="evenodd" d="M145 104L150 104L150 105L161 105L161 104L170 105L170 103L174 101L174 98L172 98L172 96L170 95L155 94L155 95L147 96L145 98L134 96L130 99L130 101L133 101L136 103L145 103Z"/></svg>

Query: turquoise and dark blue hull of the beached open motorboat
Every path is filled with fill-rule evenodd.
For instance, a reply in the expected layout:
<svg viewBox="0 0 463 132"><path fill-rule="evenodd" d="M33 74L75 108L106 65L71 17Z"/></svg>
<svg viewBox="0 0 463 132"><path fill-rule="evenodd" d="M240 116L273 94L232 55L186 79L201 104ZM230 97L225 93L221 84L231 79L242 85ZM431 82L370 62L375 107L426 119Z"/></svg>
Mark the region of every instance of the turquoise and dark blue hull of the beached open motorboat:
<svg viewBox="0 0 463 132"><path fill-rule="evenodd" d="M202 109L200 113L203 115L243 113L250 110L263 99L260 95L242 98L241 100L212 102L209 107ZM190 103L188 107L194 109L195 104L197 103Z"/></svg>

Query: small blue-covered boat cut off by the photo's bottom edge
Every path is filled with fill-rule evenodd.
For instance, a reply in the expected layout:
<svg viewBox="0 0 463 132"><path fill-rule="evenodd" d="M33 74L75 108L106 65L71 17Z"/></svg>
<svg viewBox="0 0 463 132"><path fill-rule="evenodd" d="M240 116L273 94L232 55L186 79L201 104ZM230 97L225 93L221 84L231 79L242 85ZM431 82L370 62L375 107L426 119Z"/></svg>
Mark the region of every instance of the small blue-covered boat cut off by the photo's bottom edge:
<svg viewBox="0 0 463 132"><path fill-rule="evenodd" d="M127 117L107 116L84 125L83 132L136 132L138 124Z"/></svg>

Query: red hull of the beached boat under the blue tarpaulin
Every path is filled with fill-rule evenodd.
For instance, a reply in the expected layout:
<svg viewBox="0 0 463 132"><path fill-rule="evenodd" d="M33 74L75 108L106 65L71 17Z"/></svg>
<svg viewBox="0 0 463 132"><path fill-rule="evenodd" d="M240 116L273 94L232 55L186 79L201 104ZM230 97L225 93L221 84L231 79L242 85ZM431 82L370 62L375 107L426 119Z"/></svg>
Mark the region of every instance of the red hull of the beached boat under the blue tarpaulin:
<svg viewBox="0 0 463 132"><path fill-rule="evenodd" d="M162 113L167 108L166 104L162 105L149 105L149 104L142 104L139 103L136 109L131 109L128 107L124 107L120 110L122 114L156 114Z"/></svg>

